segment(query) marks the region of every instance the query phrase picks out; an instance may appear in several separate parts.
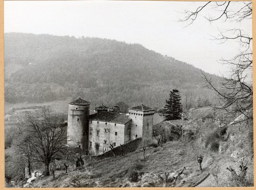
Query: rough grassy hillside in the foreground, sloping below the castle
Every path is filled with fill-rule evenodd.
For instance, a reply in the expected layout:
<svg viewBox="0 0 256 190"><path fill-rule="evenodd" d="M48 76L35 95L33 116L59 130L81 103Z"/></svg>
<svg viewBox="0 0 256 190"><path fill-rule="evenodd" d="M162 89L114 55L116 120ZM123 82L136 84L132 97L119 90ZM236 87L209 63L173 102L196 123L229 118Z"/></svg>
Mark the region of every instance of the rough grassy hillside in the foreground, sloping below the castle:
<svg viewBox="0 0 256 190"><path fill-rule="evenodd" d="M173 141L164 144L163 147L147 148L146 159L143 159L141 150L136 150L125 156L86 160L86 167L73 170L68 175L64 170L57 170L55 179L52 176L39 178L33 183L33 187L161 187L163 183L159 180L158 174L177 173L183 167L186 167L186 170L178 178L176 187L217 186L211 175L212 169L221 164L219 172L222 176L223 173L228 172L226 167L235 167L237 158L232 158L230 155L241 142L228 140L225 143L229 144L229 148L223 150L221 154L202 149L197 141L184 143ZM196 160L199 154L204 156L202 171L199 170ZM132 170L141 173L138 182L129 180ZM248 179L252 180L253 166L249 166L247 172Z"/></svg>

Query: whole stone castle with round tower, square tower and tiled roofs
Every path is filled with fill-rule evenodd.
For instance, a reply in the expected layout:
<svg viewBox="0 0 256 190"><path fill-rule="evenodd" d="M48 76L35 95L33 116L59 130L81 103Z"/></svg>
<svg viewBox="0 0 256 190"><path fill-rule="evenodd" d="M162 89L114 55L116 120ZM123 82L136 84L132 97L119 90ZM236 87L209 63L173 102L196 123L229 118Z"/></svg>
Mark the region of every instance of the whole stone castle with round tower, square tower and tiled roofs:
<svg viewBox="0 0 256 190"><path fill-rule="evenodd" d="M67 145L100 155L110 150L110 144L116 147L139 137L152 142L155 109L141 104L125 114L118 106L102 105L90 115L90 104L81 98L69 102Z"/></svg>

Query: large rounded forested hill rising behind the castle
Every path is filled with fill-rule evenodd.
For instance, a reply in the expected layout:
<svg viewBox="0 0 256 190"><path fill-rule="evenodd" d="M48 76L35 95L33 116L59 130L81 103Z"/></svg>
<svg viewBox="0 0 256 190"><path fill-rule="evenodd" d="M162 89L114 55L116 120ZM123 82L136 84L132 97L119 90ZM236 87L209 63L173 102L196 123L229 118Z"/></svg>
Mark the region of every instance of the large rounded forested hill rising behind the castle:
<svg viewBox="0 0 256 190"><path fill-rule="evenodd" d="M162 107L173 88L211 99L200 69L139 44L48 34L5 33L5 101L44 102L79 95L95 105L124 101ZM175 56L175 55L173 55ZM205 63L207 64L207 63ZM220 77L207 74L212 80ZM188 99L189 97L187 97Z"/></svg>

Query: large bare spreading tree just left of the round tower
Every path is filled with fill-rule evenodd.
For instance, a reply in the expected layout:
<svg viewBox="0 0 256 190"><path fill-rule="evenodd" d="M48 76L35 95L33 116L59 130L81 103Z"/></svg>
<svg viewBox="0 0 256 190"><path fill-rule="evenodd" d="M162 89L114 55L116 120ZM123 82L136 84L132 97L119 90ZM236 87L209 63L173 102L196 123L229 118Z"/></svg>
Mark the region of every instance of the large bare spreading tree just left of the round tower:
<svg viewBox="0 0 256 190"><path fill-rule="evenodd" d="M64 154L67 141L66 127L60 122L57 115L44 111L42 119L30 118L27 131L33 135L34 159L45 166L45 175L50 175L49 164Z"/></svg>

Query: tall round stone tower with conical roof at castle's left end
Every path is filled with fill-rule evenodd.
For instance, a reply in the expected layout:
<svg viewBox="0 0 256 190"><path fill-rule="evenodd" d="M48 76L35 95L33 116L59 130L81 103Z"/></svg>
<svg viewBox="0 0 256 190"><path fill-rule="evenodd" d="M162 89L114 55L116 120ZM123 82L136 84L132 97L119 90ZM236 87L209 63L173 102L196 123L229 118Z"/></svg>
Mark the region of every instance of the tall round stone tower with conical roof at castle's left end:
<svg viewBox="0 0 256 190"><path fill-rule="evenodd" d="M69 102L67 144L71 147L88 149L90 104L81 98Z"/></svg>

